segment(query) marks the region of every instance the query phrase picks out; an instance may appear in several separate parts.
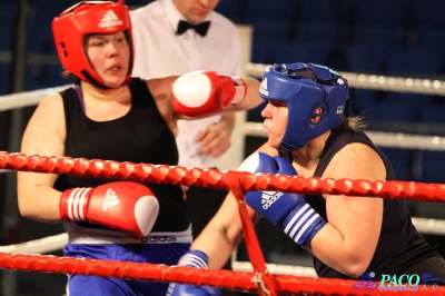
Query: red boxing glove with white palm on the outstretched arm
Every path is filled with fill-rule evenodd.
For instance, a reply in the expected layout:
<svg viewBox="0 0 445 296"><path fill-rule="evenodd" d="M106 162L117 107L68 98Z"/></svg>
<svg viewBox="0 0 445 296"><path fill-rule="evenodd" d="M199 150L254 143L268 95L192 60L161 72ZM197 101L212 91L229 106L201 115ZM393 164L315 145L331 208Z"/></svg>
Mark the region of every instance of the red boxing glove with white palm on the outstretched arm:
<svg viewBox="0 0 445 296"><path fill-rule="evenodd" d="M246 92L246 85L238 76L195 71L175 81L172 105L180 115L208 117L220 114L222 106L239 103Z"/></svg>

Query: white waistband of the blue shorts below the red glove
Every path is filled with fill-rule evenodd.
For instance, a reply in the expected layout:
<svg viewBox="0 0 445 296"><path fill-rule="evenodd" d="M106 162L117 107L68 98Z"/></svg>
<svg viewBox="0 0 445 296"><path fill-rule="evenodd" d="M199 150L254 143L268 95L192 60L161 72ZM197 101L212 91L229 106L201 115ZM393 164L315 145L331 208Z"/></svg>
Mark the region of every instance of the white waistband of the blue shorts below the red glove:
<svg viewBox="0 0 445 296"><path fill-rule="evenodd" d="M126 234L98 228L87 228L73 223L68 224L69 244L172 244L191 243L191 226L179 233L150 233L147 240L138 240Z"/></svg>

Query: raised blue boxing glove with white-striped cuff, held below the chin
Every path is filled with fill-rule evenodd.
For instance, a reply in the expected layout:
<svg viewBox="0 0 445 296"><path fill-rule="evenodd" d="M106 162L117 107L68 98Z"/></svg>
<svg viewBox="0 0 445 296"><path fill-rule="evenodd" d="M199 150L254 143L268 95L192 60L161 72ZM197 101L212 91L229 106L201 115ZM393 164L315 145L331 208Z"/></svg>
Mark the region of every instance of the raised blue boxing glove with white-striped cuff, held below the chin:
<svg viewBox="0 0 445 296"><path fill-rule="evenodd" d="M297 171L286 159L263 152L249 156L238 168L239 171L285 174ZM306 247L326 221L299 194L280 191L248 191L246 203L273 224L283 227L295 243Z"/></svg>

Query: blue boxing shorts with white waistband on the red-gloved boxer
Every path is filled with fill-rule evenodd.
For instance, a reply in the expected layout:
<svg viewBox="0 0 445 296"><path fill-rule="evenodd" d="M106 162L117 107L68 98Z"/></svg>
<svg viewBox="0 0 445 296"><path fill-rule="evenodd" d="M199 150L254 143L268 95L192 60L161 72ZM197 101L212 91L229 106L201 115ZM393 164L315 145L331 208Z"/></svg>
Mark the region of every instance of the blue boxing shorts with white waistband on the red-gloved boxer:
<svg viewBox="0 0 445 296"><path fill-rule="evenodd" d="M151 233L144 244L118 231L86 229L69 225L70 241L66 257L177 265L191 245L191 230ZM88 235L86 235L88 233ZM100 234L100 236L98 235ZM107 237L108 235L108 237ZM159 296L166 295L169 283L132 280L117 277L69 275L69 296Z"/></svg>

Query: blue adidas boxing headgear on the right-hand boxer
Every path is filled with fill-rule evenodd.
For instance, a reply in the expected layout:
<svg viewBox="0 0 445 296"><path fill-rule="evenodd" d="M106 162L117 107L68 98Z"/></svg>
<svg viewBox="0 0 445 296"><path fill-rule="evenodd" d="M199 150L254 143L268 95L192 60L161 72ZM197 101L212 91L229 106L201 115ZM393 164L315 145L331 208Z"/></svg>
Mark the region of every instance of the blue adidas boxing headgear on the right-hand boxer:
<svg viewBox="0 0 445 296"><path fill-rule="evenodd" d="M287 103L289 118L280 149L298 150L310 139L340 125L349 98L347 80L315 63L274 65L263 77L259 96ZM315 114L322 108L322 114ZM319 117L317 122L312 118Z"/></svg>

